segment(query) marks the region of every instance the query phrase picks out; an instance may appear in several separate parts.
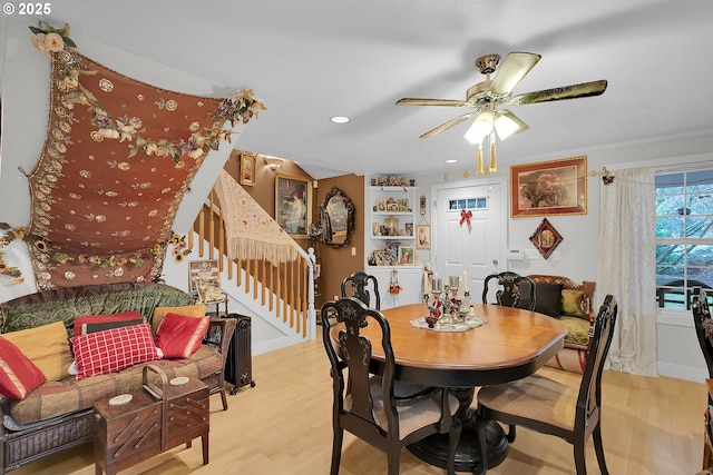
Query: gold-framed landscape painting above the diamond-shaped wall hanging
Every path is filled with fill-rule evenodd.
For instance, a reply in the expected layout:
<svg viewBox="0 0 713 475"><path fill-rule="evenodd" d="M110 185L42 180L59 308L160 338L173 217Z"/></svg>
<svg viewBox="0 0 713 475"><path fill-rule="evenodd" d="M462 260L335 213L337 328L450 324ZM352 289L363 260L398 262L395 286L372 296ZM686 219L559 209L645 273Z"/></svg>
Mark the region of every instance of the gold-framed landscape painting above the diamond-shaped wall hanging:
<svg viewBox="0 0 713 475"><path fill-rule="evenodd" d="M586 215L587 157L510 167L510 217Z"/></svg>

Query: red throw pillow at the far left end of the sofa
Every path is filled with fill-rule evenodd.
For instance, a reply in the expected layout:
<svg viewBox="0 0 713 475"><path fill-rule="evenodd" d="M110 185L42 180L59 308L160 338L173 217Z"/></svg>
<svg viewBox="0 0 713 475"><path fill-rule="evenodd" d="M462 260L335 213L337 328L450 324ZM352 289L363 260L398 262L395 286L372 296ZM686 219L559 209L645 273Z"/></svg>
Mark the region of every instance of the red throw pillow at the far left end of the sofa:
<svg viewBox="0 0 713 475"><path fill-rule="evenodd" d="M0 393L13 399L25 397L45 383L45 374L12 343L0 337Z"/></svg>

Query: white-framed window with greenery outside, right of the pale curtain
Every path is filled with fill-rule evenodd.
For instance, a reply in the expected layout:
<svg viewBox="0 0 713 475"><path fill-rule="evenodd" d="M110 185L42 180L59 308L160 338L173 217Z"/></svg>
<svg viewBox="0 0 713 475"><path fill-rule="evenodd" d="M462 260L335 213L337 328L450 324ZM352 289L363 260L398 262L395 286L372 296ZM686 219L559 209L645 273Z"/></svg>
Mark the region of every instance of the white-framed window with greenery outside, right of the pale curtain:
<svg viewBox="0 0 713 475"><path fill-rule="evenodd" d="M656 303L690 310L713 288L713 169L656 174ZM709 291L709 296L713 290Z"/></svg>

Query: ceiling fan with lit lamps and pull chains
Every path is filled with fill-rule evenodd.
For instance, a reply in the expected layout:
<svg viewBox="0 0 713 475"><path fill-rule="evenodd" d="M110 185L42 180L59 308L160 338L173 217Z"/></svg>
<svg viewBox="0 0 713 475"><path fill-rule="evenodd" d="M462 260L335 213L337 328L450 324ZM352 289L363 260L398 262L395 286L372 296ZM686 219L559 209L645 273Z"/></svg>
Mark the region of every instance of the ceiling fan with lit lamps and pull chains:
<svg viewBox="0 0 713 475"><path fill-rule="evenodd" d="M508 109L499 109L499 106L525 106L528 103L599 96L606 90L607 81L598 80L512 96L512 89L530 72L540 58L540 55L531 52L510 52L498 69L500 57L498 55L487 55L476 60L476 67L486 76L486 80L470 87L466 91L466 100L403 98L397 101L397 106L467 107L475 109L422 133L420 138L433 137L477 116L465 137L471 144L479 145L478 172L482 172L482 140L489 137L489 171L495 171L497 169L495 133L497 132L500 140L505 140L514 133L528 129L527 123L515 113ZM498 72L491 80L490 75L496 69L498 69Z"/></svg>

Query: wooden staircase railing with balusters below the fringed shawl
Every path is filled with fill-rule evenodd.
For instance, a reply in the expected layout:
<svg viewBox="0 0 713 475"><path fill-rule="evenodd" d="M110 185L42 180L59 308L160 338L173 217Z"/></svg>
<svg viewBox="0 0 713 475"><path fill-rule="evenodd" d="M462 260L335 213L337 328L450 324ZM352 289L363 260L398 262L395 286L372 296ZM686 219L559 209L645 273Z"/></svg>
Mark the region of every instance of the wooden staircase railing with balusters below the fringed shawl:
<svg viewBox="0 0 713 475"><path fill-rule="evenodd" d="M197 236L201 244L199 257L205 257L204 247L207 247L207 258L217 259L219 271L227 271L227 278L233 280L237 288L242 287L246 297L266 306L270 313L281 318L302 338L311 337L310 320L315 318L312 249L305 253L294 243L299 251L297 259L279 265L265 260L243 259L240 256L237 259L229 259L225 249L223 214L216 205L213 190L198 212L193 232L188 234L191 249L194 248L194 236ZM207 246L203 246L203 243Z"/></svg>

